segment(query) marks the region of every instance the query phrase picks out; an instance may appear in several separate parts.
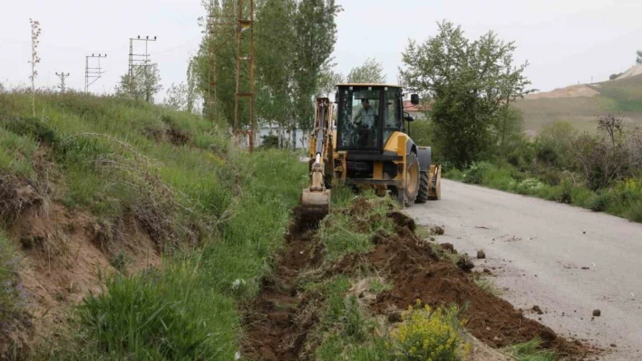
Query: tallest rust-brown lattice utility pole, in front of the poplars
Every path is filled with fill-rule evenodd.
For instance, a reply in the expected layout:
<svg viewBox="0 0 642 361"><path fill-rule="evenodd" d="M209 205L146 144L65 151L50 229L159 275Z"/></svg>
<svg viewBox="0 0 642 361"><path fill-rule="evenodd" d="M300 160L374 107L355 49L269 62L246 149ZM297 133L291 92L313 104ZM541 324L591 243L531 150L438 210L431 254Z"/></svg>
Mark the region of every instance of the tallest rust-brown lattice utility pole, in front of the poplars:
<svg viewBox="0 0 642 361"><path fill-rule="evenodd" d="M249 2L249 17L245 16L243 5ZM243 33L249 32L249 53L243 52ZM247 41L247 40L246 40ZM241 62L248 63L249 84L245 84L241 91ZM249 99L249 152L254 151L254 0L238 0L238 28L237 28L237 90L234 105L234 138L238 142L238 102L241 98Z"/></svg>

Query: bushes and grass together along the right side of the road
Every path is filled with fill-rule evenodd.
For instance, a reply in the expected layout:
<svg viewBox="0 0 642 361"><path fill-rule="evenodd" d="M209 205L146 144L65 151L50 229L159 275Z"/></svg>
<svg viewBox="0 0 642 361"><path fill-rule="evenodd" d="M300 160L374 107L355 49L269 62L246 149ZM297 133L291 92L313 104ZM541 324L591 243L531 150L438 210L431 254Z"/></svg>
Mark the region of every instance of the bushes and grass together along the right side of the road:
<svg viewBox="0 0 642 361"><path fill-rule="evenodd" d="M596 130L580 134L555 122L509 154L445 176L642 222L642 132L614 116L598 119Z"/></svg>

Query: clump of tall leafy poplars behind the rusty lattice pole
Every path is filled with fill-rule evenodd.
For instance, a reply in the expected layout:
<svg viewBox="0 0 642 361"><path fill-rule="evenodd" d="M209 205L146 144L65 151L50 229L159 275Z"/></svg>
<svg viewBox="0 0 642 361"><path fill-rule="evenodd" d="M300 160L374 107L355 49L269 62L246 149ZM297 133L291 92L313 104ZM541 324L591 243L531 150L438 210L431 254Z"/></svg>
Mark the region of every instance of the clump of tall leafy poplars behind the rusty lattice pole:
<svg viewBox="0 0 642 361"><path fill-rule="evenodd" d="M225 23L238 16L236 0L215 0L207 5L209 25L201 19L206 36L194 57L197 88L211 100L208 114L216 114L233 124L236 90L237 43L229 31L235 25ZM255 22L255 96L259 122L277 124L280 134L297 128L311 128L314 97L319 78L334 51L336 43L335 0L261 0L256 6ZM248 14L248 8L241 9ZM287 21L284 21L287 19ZM215 31L214 31L215 30ZM243 36L247 36L244 34ZM242 46L248 46L245 42ZM242 49L248 53L248 49ZM213 59L212 59L213 58ZM212 67L216 66L215 69ZM248 69L242 69L242 84L247 84ZM214 74L216 86L209 87ZM212 93L208 94L208 90ZM241 90L243 92L244 90ZM248 104L240 103L239 121L248 119ZM247 124L239 124L247 127ZM295 140L295 139L292 139ZM290 142L294 144L295 142Z"/></svg>

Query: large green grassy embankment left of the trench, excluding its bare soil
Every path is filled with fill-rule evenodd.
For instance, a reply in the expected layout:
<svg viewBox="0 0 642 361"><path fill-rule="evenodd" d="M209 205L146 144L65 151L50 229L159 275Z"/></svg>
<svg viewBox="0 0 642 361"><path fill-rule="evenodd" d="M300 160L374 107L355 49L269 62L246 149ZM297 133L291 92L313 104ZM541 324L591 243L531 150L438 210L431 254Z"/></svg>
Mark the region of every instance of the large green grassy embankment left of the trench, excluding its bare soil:
<svg viewBox="0 0 642 361"><path fill-rule="evenodd" d="M31 206L7 206L10 188L32 185L34 206L60 204L107 224L134 219L164 260L140 273L107 272L102 293L85 297L63 336L34 358L233 359L238 302L271 269L305 164L286 152L238 154L207 121L145 103L39 94L36 106L32 119L28 95L0 94L5 227ZM2 328L28 310L29 295L20 243L0 234L0 247ZM112 258L127 259L119 254Z"/></svg>

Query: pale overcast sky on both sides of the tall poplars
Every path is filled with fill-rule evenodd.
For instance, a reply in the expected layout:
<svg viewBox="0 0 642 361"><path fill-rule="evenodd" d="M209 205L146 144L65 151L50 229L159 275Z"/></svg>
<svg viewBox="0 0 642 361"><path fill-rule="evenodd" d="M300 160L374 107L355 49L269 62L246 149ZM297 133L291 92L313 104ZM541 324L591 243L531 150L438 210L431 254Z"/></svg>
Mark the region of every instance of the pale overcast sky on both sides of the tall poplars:
<svg viewBox="0 0 642 361"><path fill-rule="evenodd" d="M443 19L462 24L469 38L493 30L515 41L516 60L539 90L604 81L626 71L642 49L641 0L337 0L335 62L347 73L375 57L396 82L408 39L423 41ZM127 71L129 38L157 36L150 43L162 83L185 80L190 54L202 36L200 0L0 0L0 81L26 83L30 75L29 18L41 23L37 83L53 86L56 71L70 72L67 85L83 89L85 55L107 53L95 92L111 92Z"/></svg>

